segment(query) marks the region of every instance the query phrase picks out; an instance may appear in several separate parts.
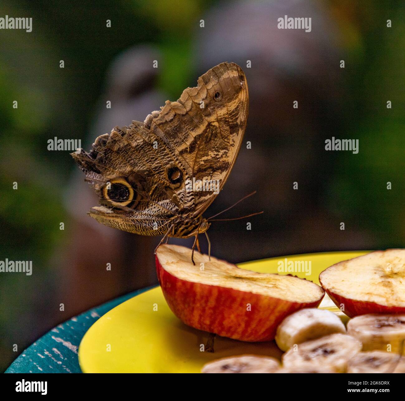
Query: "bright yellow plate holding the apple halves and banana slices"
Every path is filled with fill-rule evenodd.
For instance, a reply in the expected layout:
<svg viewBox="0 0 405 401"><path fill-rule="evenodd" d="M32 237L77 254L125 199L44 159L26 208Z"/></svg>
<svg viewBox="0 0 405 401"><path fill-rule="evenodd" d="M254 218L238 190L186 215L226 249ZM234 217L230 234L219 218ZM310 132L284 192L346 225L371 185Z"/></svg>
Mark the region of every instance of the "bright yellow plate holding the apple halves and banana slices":
<svg viewBox="0 0 405 401"><path fill-rule="evenodd" d="M275 257L239 265L261 273L280 273L280 260L311 262L311 274L294 272L319 284L322 270L369 251L309 253ZM320 308L339 310L326 296ZM238 354L261 354L280 358L274 341L244 343L215 338L215 352L201 352L207 333L188 327L173 315L160 287L153 288L118 305L102 316L83 337L79 347L79 363L84 373L197 373L210 360Z"/></svg>

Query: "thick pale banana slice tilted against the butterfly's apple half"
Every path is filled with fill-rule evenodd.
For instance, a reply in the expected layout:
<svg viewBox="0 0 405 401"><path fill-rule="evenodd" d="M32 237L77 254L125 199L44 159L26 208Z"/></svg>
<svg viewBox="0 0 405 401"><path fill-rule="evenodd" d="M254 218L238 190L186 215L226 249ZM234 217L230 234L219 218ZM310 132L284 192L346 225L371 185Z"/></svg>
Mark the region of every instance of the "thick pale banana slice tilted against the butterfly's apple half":
<svg viewBox="0 0 405 401"><path fill-rule="evenodd" d="M301 309L281 322L275 340L280 350L288 351L294 344L333 333L346 334L345 325L335 313L317 308Z"/></svg>

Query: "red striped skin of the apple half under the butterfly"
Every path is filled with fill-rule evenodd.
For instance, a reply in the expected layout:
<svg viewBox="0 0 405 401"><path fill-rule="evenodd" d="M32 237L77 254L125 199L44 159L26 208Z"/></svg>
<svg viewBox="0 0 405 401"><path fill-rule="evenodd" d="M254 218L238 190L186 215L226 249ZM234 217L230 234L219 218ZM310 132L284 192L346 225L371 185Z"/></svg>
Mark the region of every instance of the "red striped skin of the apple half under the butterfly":
<svg viewBox="0 0 405 401"><path fill-rule="evenodd" d="M178 279L161 266L156 270L162 292L173 313L188 326L231 339L271 341L277 326L291 313L316 308L315 302L299 303L216 285ZM251 311L247 311L247 305Z"/></svg>

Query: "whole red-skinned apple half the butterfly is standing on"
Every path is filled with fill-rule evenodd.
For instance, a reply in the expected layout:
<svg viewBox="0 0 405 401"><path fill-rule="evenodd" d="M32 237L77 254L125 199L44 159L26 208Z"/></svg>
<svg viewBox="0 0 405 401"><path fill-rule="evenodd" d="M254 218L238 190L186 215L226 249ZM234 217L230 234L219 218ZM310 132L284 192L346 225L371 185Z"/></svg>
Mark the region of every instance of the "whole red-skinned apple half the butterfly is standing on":
<svg viewBox="0 0 405 401"><path fill-rule="evenodd" d="M164 298L188 326L242 341L270 341L291 313L317 307L324 290L290 275L263 274L178 245L156 250Z"/></svg>

